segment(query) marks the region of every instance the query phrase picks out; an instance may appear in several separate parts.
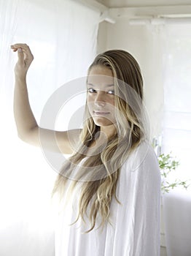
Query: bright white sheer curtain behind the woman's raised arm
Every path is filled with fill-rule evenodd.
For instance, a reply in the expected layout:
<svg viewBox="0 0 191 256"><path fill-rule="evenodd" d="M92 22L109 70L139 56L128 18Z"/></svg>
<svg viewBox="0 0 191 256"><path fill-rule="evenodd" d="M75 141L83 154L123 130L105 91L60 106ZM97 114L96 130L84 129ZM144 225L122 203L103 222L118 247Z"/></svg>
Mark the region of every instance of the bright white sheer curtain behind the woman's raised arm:
<svg viewBox="0 0 191 256"><path fill-rule="evenodd" d="M76 1L0 0L0 15L0 255L54 255L50 193L57 173L40 149L17 138L12 111L17 57L10 45L26 42L34 53L28 91L39 122L52 92L86 75L96 53L100 14Z"/></svg>

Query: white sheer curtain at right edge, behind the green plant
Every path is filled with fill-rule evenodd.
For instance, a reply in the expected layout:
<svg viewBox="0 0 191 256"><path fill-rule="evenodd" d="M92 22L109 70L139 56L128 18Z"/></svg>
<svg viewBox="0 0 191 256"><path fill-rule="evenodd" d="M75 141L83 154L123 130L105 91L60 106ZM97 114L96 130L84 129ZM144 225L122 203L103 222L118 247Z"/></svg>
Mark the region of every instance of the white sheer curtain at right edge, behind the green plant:
<svg viewBox="0 0 191 256"><path fill-rule="evenodd" d="M165 26L163 152L180 165L171 176L191 183L191 24ZM168 256L191 255L191 188L163 198Z"/></svg>

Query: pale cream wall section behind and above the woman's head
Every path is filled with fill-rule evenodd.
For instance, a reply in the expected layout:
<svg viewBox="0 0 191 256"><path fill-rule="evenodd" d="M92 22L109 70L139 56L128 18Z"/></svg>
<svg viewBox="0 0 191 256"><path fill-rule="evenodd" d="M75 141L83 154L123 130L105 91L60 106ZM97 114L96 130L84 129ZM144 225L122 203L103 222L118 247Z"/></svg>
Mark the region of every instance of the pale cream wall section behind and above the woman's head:
<svg viewBox="0 0 191 256"><path fill-rule="evenodd" d="M151 122L151 136L162 130L163 116L163 37L158 27L129 25L128 17L116 23L102 22L98 32L98 53L109 49L130 52L139 62L144 77L144 96ZM163 34L163 33L162 33Z"/></svg>

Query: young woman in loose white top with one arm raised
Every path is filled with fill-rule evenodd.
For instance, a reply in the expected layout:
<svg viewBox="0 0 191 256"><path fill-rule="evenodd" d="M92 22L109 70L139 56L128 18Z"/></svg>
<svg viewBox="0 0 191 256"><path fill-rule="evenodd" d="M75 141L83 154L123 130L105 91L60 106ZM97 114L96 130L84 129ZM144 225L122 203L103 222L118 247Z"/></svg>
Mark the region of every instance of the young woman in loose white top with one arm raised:
<svg viewBox="0 0 191 256"><path fill-rule="evenodd" d="M22 140L40 135L63 163L54 195L60 196L55 256L159 256L160 170L147 142L139 64L124 50L95 57L87 72L82 129L42 129L28 102L26 74L33 61L25 44L15 66L15 121ZM79 139L80 138L80 139ZM72 140L72 143L71 143Z"/></svg>

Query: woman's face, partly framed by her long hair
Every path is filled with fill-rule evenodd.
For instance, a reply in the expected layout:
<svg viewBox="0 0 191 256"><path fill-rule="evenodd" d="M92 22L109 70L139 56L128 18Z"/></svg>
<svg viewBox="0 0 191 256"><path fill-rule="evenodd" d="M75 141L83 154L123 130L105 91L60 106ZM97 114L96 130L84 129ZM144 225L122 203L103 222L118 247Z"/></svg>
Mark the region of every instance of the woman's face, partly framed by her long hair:
<svg viewBox="0 0 191 256"><path fill-rule="evenodd" d="M94 66L87 78L87 106L99 127L116 123L114 117L114 78L112 70Z"/></svg>

